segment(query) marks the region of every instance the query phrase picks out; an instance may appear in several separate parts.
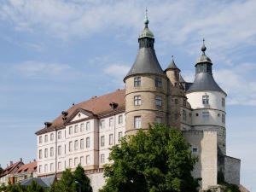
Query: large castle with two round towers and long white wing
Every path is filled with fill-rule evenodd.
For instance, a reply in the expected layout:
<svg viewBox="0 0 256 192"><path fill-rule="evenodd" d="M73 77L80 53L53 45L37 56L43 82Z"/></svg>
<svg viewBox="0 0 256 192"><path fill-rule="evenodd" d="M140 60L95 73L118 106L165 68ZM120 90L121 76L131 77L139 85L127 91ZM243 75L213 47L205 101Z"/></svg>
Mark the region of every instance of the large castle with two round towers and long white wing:
<svg viewBox="0 0 256 192"><path fill-rule="evenodd" d="M138 43L136 61L125 76L125 90L74 104L55 120L45 122L38 137L38 177L61 175L81 164L94 191L104 184L102 167L109 148L119 138L164 123L183 131L192 154L199 157L193 171L201 189L218 184L218 176L240 184L241 161L226 155L225 99L212 76L212 61L202 45L195 63L195 80L186 82L175 62L163 70L154 52L148 17Z"/></svg>

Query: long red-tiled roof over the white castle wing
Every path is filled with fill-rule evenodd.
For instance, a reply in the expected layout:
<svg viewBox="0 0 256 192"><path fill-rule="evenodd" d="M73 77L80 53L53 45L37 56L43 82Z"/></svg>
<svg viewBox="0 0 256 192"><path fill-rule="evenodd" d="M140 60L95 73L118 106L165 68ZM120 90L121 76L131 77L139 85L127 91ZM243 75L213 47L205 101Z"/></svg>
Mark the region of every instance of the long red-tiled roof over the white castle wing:
<svg viewBox="0 0 256 192"><path fill-rule="evenodd" d="M125 90L116 90L104 96L92 97L90 100L73 105L71 108L67 109L67 119L78 108L83 108L85 110L91 111L94 114L108 113L113 110L109 106L110 102L118 103L117 109L125 108ZM55 128L61 127L62 125L63 120L61 114L52 122L52 125L36 132L36 134L40 135L44 132L55 130Z"/></svg>

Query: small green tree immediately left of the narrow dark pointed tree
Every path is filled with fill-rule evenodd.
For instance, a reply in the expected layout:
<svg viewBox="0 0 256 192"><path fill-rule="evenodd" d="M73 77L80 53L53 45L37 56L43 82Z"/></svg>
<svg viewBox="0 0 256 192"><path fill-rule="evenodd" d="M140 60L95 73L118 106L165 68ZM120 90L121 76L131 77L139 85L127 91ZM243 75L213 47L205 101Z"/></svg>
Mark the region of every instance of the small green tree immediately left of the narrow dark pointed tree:
<svg viewBox="0 0 256 192"><path fill-rule="evenodd" d="M76 183L70 169L62 172L61 180L56 182L54 187L55 192L77 192Z"/></svg>

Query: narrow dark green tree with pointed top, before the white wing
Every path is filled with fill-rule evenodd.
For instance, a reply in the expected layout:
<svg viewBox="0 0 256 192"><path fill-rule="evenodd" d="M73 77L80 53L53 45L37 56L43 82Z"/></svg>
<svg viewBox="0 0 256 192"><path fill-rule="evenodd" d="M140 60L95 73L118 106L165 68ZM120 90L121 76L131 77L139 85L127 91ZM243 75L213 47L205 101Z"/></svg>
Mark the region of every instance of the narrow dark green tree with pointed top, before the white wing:
<svg viewBox="0 0 256 192"><path fill-rule="evenodd" d="M75 172L73 172L73 177L75 181L78 182L78 191L79 187L81 187L81 192L92 192L92 188L90 186L90 178L84 174L84 168L82 166L79 165L76 168Z"/></svg>

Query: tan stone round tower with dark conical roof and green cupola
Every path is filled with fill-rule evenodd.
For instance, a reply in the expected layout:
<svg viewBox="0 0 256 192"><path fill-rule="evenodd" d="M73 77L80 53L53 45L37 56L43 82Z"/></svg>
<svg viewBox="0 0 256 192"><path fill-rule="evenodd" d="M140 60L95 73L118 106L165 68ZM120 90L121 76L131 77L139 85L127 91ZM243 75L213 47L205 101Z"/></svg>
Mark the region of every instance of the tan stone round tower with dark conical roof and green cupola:
<svg viewBox="0 0 256 192"><path fill-rule="evenodd" d="M154 34L148 29L146 13L143 32L138 38L136 61L125 76L126 134L148 129L148 124L166 123L166 74L154 52Z"/></svg>

